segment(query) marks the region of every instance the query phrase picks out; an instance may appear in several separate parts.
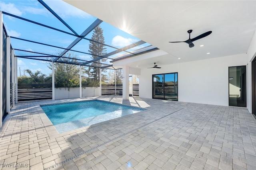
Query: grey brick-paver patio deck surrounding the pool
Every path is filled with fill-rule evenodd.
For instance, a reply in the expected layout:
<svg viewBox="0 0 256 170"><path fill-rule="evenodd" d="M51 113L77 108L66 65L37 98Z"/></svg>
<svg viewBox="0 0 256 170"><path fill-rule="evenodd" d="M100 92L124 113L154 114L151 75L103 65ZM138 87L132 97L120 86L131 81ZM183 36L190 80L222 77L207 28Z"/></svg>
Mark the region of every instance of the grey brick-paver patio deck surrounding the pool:
<svg viewBox="0 0 256 170"><path fill-rule="evenodd" d="M256 169L246 108L101 96L147 110L59 134L39 106L90 99L16 104L0 131L1 169Z"/></svg>

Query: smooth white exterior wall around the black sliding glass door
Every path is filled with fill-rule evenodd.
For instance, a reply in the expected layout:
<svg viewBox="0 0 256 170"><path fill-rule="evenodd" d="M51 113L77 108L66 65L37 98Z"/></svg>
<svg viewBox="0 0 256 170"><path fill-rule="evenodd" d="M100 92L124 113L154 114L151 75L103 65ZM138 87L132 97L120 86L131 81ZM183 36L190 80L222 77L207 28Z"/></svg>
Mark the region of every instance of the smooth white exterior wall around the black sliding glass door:
<svg viewBox="0 0 256 170"><path fill-rule="evenodd" d="M232 55L161 69L141 69L140 97L152 98L152 74L178 72L178 101L228 106L228 67L247 64L247 55Z"/></svg>

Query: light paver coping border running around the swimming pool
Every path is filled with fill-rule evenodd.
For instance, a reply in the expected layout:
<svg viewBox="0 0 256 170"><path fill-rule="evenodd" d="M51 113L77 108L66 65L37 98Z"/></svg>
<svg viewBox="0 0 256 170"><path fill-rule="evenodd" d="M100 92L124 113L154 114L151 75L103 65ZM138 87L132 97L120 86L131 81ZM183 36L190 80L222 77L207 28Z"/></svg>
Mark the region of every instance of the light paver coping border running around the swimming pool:
<svg viewBox="0 0 256 170"><path fill-rule="evenodd" d="M148 111L148 109L145 109L145 108L142 108L142 107L129 106L129 105L126 105L126 104L119 104L119 103L116 103L116 102L109 102L109 101L100 100L100 99L92 99L92 100L98 100L98 101L101 101L101 102L106 102L106 103L116 104L116 105L120 105L120 106L126 106L126 107L130 107L130 108L140 109L140 111L137 112L136 114L140 114L140 113L144 113L145 111ZM44 110L41 107L41 106L53 106L53 105L61 105L61 104L69 104L69 103L80 103L80 102L87 102L87 101L92 101L92 100L80 100L80 101L74 101L74 102L61 102L61 103L54 103L54 104L39 104L38 106L36 106L36 107L38 107L38 108L36 108L37 111L38 111L38 115L40 116L40 118L42 120L42 123L43 123L43 125L46 129L46 132L48 133L50 139L53 139L53 138L56 138L56 137L61 137L63 135L69 135L69 134L72 134L72 133L76 133L77 131L86 130L86 129L89 129L90 127L94 127L94 126L106 123L106 121L113 121L115 119L120 119L121 118L121 117L116 117L114 119L102 121L102 122L99 122L99 123L95 123L93 125L88 125L88 126L80 127L78 129L73 129L73 130L70 130L70 131L59 133L58 130L54 127L54 125L50 121L50 119L48 118L48 116L46 115L46 113L44 113ZM133 114L124 115L124 116L122 116L122 118L127 117L127 116L131 116Z"/></svg>

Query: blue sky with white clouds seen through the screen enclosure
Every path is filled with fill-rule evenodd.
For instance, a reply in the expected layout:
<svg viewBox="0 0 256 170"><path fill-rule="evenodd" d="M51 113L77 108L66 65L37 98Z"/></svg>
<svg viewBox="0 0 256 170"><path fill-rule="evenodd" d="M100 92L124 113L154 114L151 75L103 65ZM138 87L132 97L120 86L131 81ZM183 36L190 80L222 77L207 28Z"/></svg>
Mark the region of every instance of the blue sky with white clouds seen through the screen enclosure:
<svg viewBox="0 0 256 170"><path fill-rule="evenodd" d="M44 2L56 12L74 31L81 34L91 23L97 18L83 12L74 6L67 4L61 0L44 0ZM26 18L28 20L36 21L57 29L61 29L66 32L72 33L63 23L61 23L56 17L54 17L42 4L37 0L1 0L0 10ZM9 36L18 37L22 39L28 39L31 41L38 41L50 45L66 48L76 37L67 35L59 31L48 29L40 25L29 23L17 18L13 18L7 15L3 15L4 25L6 27ZM124 31L109 25L108 23L102 22L100 24L104 30L105 43L112 45L117 48L130 45L139 41L136 37L125 33ZM88 34L86 38L91 38L92 33ZM47 53L56 55L62 50L54 47L37 45L26 41L20 41L11 39L12 47L22 50ZM80 41L73 49L88 53L89 41ZM140 47L146 46L141 45ZM138 47L137 47L138 48ZM107 48L107 53L110 53L116 49ZM23 52L16 51L15 55L22 55ZM88 60L91 58L90 55L75 53L78 58ZM110 60L109 60L110 61ZM107 64L111 64L107 61ZM25 69L30 69L32 72L36 70L41 71L43 74L51 74L51 70L48 69L44 61L37 61L31 59L18 58L18 68L21 70L21 74L24 74ZM18 72L18 76L20 73Z"/></svg>

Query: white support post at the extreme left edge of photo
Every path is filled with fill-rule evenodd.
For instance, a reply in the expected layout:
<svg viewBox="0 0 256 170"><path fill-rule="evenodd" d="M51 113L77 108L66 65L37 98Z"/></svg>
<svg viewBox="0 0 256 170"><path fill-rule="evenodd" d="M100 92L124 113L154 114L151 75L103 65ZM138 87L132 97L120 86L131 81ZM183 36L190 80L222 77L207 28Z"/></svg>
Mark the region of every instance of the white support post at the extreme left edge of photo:
<svg viewBox="0 0 256 170"><path fill-rule="evenodd" d="M3 121L3 14L0 11L0 127L2 127Z"/></svg>

